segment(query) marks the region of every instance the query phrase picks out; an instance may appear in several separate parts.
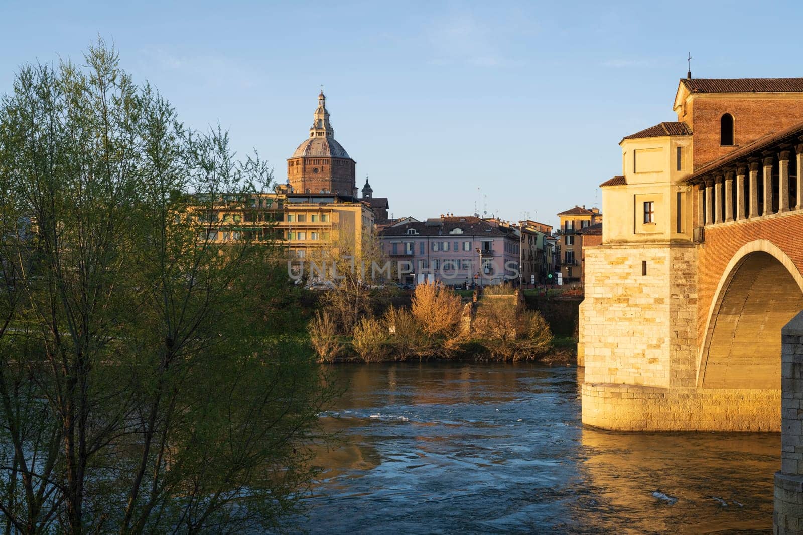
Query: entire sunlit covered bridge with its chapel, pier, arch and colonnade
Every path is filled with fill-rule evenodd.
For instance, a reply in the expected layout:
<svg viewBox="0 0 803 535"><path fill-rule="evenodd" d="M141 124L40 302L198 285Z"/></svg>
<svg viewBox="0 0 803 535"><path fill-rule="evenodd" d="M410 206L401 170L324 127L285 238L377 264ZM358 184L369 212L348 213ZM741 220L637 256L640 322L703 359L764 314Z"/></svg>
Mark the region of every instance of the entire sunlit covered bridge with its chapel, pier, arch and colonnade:
<svg viewBox="0 0 803 535"><path fill-rule="evenodd" d="M689 73L673 111L622 138L622 174L601 184L583 421L778 431L781 327L803 310L803 78Z"/></svg>

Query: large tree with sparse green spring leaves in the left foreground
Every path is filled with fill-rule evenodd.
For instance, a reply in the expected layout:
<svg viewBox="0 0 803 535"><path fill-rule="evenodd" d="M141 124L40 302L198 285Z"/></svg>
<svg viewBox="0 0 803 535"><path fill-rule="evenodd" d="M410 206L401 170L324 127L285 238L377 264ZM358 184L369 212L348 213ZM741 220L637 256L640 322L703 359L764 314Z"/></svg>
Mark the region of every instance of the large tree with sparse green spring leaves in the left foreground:
<svg viewBox="0 0 803 535"><path fill-rule="evenodd" d="M275 248L198 217L270 170L185 129L102 41L85 59L23 67L0 103L6 533L275 527L335 391L263 321Z"/></svg>

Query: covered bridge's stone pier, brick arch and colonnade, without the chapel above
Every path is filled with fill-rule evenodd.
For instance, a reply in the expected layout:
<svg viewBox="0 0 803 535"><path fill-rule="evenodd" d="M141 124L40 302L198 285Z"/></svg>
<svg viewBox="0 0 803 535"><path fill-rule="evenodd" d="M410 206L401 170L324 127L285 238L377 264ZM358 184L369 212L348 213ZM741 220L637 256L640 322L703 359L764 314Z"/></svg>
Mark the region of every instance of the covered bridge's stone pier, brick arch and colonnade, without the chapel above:
<svg viewBox="0 0 803 535"><path fill-rule="evenodd" d="M803 124L679 183L695 212L691 240L606 243L603 231L586 250L585 423L781 429L781 328L803 310L798 169Z"/></svg>

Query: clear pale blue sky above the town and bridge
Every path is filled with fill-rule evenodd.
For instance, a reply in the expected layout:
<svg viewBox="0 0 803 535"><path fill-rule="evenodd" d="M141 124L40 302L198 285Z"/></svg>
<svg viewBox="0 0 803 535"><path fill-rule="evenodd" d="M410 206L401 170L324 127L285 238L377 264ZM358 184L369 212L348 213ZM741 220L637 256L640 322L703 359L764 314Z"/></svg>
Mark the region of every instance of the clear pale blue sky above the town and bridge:
<svg viewBox="0 0 803 535"><path fill-rule="evenodd" d="M193 128L286 179L324 84L335 137L396 216L554 223L601 202L622 136L698 78L803 76L803 3L8 2L0 91L100 34ZM486 201L487 200L487 201Z"/></svg>

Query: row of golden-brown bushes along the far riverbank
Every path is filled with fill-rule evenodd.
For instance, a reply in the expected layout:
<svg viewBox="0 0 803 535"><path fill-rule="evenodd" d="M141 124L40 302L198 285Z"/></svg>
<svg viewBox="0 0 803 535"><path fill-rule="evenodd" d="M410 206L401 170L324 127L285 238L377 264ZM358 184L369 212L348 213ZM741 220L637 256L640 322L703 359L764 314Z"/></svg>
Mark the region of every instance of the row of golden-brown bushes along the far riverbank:
<svg viewBox="0 0 803 535"><path fill-rule="evenodd" d="M487 288L463 302L454 290L422 284L409 308L391 305L381 313L370 306L377 304L375 296L361 286L351 290L326 294L308 323L320 362L577 362L576 322L561 322L556 337L519 290Z"/></svg>

